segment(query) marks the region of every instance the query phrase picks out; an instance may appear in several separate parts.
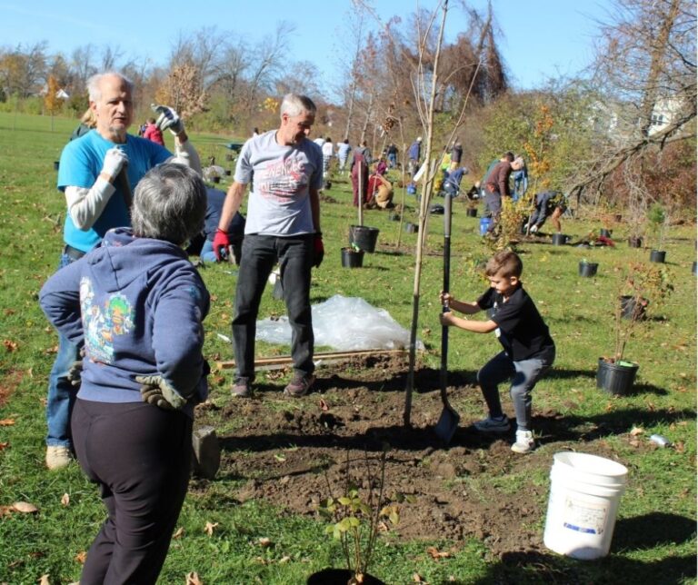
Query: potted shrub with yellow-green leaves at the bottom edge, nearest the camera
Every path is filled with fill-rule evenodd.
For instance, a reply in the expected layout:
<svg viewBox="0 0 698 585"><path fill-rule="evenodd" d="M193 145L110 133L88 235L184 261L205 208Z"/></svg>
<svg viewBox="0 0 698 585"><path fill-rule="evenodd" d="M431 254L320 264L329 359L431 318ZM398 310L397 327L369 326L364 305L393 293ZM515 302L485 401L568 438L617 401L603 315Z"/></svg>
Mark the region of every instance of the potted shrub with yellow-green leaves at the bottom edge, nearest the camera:
<svg viewBox="0 0 698 585"><path fill-rule="evenodd" d="M360 469L354 470L354 478L347 453L341 495L331 495L318 508L318 512L331 522L325 532L339 540L346 568L321 570L311 575L307 583L384 585L384 581L370 575L368 569L378 533L387 530L388 524L400 521L398 504L387 501L384 496L386 453L387 451L383 451L377 461L377 470L376 461L370 461L366 455ZM359 485L368 487L360 488ZM329 480L327 488L332 491Z"/></svg>

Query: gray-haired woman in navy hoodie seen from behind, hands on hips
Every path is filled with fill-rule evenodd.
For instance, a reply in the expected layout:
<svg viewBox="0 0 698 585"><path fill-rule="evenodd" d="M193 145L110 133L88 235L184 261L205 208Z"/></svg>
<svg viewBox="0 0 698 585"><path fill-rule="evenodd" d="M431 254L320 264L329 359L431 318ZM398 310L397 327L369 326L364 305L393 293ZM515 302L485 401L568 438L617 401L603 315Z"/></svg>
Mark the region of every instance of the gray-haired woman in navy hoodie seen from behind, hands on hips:
<svg viewBox="0 0 698 585"><path fill-rule="evenodd" d="M165 561L189 479L194 405L208 393L209 295L182 248L205 213L194 171L156 166L135 189L133 229L107 232L41 290L55 328L85 342L82 375L74 367L75 452L108 517L83 585L155 583Z"/></svg>

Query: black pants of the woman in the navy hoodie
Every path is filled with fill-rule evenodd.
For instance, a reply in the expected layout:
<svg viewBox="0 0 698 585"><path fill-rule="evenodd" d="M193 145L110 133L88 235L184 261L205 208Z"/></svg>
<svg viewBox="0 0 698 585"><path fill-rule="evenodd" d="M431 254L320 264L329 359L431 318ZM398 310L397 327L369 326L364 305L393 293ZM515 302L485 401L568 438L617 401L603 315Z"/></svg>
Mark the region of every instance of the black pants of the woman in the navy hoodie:
<svg viewBox="0 0 698 585"><path fill-rule="evenodd" d="M189 481L191 419L145 402L77 399L71 424L77 459L109 514L81 585L155 583Z"/></svg>

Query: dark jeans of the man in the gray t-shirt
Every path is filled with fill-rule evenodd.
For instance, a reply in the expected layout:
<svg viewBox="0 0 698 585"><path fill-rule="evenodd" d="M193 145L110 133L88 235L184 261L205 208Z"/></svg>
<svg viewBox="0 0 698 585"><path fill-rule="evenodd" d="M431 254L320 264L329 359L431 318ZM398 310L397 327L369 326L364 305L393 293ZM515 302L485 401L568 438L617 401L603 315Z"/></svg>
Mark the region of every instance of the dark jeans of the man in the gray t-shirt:
<svg viewBox="0 0 698 585"><path fill-rule="evenodd" d="M291 325L294 371L314 372L313 319L310 309L312 234L293 237L246 234L235 290L233 342L237 375L254 379L254 335L264 286L275 263L281 268L284 302Z"/></svg>

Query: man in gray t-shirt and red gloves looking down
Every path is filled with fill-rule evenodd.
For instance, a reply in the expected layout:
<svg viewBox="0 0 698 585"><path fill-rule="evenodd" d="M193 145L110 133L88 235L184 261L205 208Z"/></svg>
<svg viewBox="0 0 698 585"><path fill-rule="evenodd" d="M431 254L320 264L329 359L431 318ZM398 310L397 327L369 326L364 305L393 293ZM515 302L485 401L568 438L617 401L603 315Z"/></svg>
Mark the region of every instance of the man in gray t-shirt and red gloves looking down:
<svg viewBox="0 0 698 585"><path fill-rule="evenodd" d="M247 185L252 184L233 318L237 365L233 395L241 398L252 395L257 312L266 280L277 262L293 332L294 377L284 393L304 396L315 381L310 275L324 255L318 193L323 185L323 154L305 135L314 124L315 112L310 98L287 94L278 130L244 144L214 236L218 256L229 245L228 225L240 208Z"/></svg>

